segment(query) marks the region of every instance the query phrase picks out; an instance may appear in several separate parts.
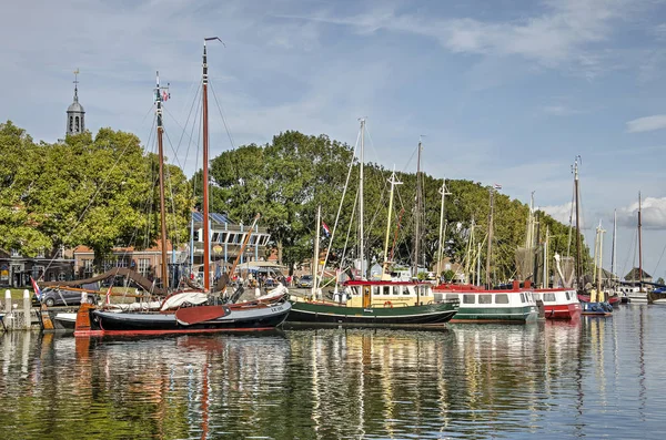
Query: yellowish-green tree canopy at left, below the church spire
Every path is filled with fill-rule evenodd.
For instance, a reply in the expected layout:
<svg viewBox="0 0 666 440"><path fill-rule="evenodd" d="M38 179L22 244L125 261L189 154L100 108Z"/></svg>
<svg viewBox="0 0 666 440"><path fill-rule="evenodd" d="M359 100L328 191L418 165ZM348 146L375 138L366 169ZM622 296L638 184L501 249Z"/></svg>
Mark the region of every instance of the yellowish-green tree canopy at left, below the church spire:
<svg viewBox="0 0 666 440"><path fill-rule="evenodd" d="M157 158L135 135L101 129L94 139L85 132L36 144L7 122L0 124L0 154L1 248L34 256L82 244L99 260L113 246L141 248L157 239ZM170 238L185 242L193 203L189 182L169 165L165 183Z"/></svg>

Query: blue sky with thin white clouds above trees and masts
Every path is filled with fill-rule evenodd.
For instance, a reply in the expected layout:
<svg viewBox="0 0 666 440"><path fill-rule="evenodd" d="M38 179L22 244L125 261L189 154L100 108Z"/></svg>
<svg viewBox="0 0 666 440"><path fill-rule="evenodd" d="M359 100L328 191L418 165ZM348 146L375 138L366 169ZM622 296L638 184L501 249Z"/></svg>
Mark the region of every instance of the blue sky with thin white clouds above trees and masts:
<svg viewBox="0 0 666 440"><path fill-rule="evenodd" d="M666 277L666 4L662 0L95 1L0 7L0 119L37 140L62 137L80 69L93 132L148 142L154 71L171 83L167 130L181 134L200 81L211 82L236 145L284 130L353 144L367 116L369 161L403 170L418 135L437 177L501 183L568 218L581 167L588 238L618 209L618 265L634 263L637 194L644 266ZM213 156L232 147L211 108ZM184 151L184 149L182 150ZM186 170L194 157L179 154ZM637 260L636 260L637 264Z"/></svg>

